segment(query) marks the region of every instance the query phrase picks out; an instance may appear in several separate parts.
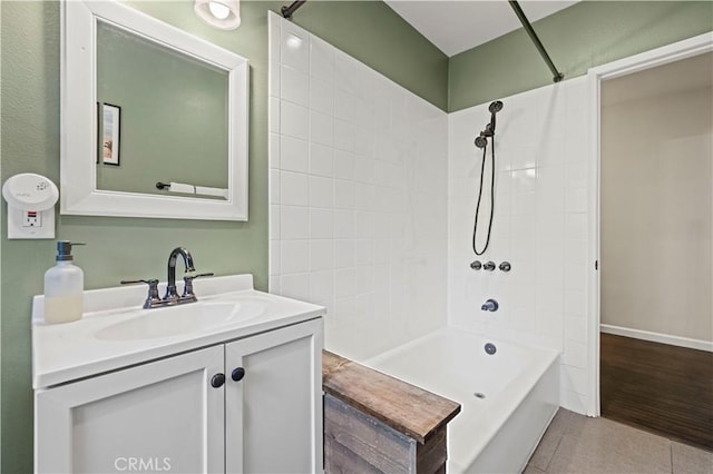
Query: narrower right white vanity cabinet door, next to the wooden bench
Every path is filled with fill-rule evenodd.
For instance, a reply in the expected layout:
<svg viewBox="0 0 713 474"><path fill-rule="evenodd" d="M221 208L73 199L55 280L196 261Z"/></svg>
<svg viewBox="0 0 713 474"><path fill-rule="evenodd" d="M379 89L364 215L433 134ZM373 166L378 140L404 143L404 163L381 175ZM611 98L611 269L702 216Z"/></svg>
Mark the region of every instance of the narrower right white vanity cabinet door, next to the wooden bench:
<svg viewBox="0 0 713 474"><path fill-rule="evenodd" d="M322 472L322 319L227 344L225 372L226 471Z"/></svg>

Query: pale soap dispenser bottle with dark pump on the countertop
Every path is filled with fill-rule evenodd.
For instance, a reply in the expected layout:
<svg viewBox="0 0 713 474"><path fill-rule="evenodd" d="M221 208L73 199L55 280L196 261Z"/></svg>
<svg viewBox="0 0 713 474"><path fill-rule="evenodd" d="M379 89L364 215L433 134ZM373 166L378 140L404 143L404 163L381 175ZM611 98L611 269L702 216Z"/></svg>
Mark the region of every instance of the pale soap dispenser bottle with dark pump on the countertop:
<svg viewBox="0 0 713 474"><path fill-rule="evenodd" d="M57 265L45 273L45 323L69 323L81 318L85 274L72 264L72 244L57 241Z"/></svg>

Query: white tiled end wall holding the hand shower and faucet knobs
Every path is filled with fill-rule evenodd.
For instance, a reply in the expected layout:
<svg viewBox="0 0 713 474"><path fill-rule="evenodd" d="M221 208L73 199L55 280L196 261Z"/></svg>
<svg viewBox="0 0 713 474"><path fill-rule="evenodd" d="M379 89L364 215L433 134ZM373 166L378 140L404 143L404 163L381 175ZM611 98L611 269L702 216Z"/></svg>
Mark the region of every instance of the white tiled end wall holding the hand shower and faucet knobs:
<svg viewBox="0 0 713 474"><path fill-rule="evenodd" d="M563 352L561 404L587 402L586 78L504 98L497 118L496 208L481 261L509 274L473 271L470 248L481 151L472 146L488 103L449 116L449 324ZM500 309L480 306L496 298Z"/></svg>

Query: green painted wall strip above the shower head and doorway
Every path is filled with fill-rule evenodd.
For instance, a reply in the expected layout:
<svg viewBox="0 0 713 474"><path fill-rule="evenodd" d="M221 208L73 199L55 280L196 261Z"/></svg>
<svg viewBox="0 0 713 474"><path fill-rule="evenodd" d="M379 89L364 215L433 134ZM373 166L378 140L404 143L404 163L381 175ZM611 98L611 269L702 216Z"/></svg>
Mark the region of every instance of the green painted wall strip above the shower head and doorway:
<svg viewBox="0 0 713 474"><path fill-rule="evenodd" d="M533 23L565 79L713 29L711 1L583 1ZM525 30L453 56L448 110L553 83Z"/></svg>

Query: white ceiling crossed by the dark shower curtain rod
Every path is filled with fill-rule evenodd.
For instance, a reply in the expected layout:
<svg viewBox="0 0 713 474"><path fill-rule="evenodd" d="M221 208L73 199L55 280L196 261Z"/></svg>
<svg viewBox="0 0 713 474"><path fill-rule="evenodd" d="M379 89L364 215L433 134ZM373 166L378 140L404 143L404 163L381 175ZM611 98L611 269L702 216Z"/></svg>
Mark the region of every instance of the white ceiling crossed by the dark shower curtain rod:
<svg viewBox="0 0 713 474"><path fill-rule="evenodd" d="M521 27L506 0L384 0L447 56L475 48ZM520 0L530 22L576 1Z"/></svg>

